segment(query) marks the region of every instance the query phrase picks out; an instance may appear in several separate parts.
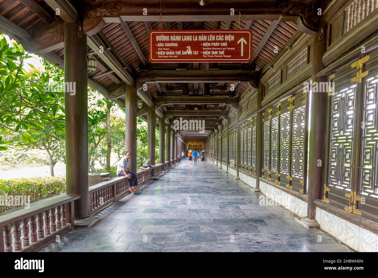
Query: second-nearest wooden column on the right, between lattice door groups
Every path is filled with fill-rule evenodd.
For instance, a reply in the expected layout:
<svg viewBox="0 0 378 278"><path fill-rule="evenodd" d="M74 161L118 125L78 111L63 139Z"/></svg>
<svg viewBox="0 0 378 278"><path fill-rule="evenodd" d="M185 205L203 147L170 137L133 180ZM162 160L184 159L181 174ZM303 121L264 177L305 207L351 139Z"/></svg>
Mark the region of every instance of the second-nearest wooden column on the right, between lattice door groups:
<svg viewBox="0 0 378 278"><path fill-rule="evenodd" d="M260 80L262 73L260 73ZM261 170L262 170L262 141L263 141L263 125L262 125L262 110L261 102L263 99L264 86L260 81L259 89L257 90L257 116L256 116L256 188L260 188Z"/></svg>

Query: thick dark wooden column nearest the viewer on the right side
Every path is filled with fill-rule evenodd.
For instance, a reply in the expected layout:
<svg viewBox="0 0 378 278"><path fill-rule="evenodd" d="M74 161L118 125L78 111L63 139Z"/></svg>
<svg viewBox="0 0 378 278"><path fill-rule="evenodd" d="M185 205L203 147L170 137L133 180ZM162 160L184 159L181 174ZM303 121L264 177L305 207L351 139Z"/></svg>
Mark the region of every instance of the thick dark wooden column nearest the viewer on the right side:
<svg viewBox="0 0 378 278"><path fill-rule="evenodd" d="M327 2L321 1L321 9L325 10ZM327 82L327 77L317 77L316 74L324 69L322 63L323 54L327 45L327 24L324 16L318 16L319 31L314 35L313 59L312 59L312 83ZM323 30L323 33L322 33ZM319 37L321 39L319 39ZM311 94L310 138L309 138L309 163L308 163L308 206L307 218L315 219L316 207L314 200L322 199L324 143L325 143L325 118L327 107L327 92ZM318 166L319 160L322 166Z"/></svg>

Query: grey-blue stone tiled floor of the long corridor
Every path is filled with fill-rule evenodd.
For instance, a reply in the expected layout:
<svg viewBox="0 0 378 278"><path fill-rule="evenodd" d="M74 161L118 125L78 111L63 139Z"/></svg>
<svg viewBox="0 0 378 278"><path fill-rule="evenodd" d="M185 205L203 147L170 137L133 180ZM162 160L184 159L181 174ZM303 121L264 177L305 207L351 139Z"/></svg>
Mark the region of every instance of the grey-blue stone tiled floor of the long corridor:
<svg viewBox="0 0 378 278"><path fill-rule="evenodd" d="M42 252L351 252L322 230L306 229L281 206L219 167L184 160L159 180L101 211Z"/></svg>

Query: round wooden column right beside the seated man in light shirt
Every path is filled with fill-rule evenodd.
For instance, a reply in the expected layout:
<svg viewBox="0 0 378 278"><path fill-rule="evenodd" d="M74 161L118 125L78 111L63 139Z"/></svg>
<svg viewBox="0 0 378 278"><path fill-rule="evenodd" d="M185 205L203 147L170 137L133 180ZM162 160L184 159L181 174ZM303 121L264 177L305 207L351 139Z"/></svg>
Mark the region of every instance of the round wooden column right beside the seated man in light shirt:
<svg viewBox="0 0 378 278"><path fill-rule="evenodd" d="M130 171L136 173L136 88L126 85L125 151L131 152Z"/></svg>

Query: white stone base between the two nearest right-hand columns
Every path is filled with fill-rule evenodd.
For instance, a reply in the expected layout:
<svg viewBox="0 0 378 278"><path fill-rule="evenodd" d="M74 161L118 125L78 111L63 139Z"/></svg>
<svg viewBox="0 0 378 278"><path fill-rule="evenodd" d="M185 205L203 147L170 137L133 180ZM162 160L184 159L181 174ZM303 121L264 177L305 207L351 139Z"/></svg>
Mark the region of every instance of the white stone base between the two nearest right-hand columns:
<svg viewBox="0 0 378 278"><path fill-rule="evenodd" d="M307 202L260 180L260 192L299 217L307 216Z"/></svg>

